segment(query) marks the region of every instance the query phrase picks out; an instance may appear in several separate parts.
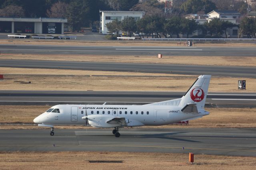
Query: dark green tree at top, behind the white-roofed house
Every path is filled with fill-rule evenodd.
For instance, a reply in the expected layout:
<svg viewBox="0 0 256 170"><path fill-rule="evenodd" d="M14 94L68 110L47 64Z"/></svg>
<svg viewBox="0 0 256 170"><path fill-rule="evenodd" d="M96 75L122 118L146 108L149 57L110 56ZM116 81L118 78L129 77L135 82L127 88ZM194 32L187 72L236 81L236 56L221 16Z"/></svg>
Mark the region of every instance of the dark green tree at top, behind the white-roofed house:
<svg viewBox="0 0 256 170"><path fill-rule="evenodd" d="M198 11L204 11L205 13L208 13L215 8L215 4L210 0L187 0L180 6L180 9L187 14L196 14Z"/></svg>

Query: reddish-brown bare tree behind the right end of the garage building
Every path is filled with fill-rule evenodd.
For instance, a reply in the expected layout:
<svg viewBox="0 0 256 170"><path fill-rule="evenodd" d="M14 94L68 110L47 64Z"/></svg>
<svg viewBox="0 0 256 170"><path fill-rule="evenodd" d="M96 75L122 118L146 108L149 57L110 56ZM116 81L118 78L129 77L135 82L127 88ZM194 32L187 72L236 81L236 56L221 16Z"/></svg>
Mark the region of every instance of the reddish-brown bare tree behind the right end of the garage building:
<svg viewBox="0 0 256 170"><path fill-rule="evenodd" d="M46 11L46 15L50 18L66 18L67 8L68 4L58 1Z"/></svg>

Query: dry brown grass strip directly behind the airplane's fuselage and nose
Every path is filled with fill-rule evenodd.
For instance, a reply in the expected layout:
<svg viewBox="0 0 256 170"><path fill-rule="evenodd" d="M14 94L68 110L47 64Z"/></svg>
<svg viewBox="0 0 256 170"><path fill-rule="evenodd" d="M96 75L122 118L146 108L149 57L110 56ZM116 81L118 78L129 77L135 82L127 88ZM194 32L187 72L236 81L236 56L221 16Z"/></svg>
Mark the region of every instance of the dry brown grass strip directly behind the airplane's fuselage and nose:
<svg viewBox="0 0 256 170"><path fill-rule="evenodd" d="M1 106L0 123L33 123L33 119L51 106ZM210 115L189 121L189 125L166 125L156 128L256 128L256 108L206 108ZM38 128L37 126L2 125L2 129ZM84 126L57 126L57 128L85 128ZM142 127L145 128L145 127ZM152 128L152 127L151 127Z"/></svg>

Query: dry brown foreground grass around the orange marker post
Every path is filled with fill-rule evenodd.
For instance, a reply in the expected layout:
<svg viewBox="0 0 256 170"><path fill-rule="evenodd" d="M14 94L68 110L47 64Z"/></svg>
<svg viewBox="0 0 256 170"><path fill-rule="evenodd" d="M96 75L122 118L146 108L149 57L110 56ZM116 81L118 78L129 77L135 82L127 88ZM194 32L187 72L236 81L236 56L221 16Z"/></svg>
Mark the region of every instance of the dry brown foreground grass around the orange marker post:
<svg viewBox="0 0 256 170"><path fill-rule="evenodd" d="M89 163L89 160L122 161L122 163ZM194 155L194 164L188 154L141 152L1 152L4 169L255 169L256 157Z"/></svg>

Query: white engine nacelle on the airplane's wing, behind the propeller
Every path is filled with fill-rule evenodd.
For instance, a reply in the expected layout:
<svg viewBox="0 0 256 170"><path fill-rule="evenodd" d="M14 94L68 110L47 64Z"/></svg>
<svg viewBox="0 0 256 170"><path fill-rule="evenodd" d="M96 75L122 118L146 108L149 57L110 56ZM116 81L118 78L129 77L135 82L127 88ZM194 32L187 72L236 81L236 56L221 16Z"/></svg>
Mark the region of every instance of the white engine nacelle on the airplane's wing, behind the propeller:
<svg viewBox="0 0 256 170"><path fill-rule="evenodd" d="M112 115L88 115L82 117L82 119L86 120L86 117L88 119L88 123L93 127L100 127L100 128L112 128L112 127L119 127L120 124L114 123L109 124L107 121L115 118L115 116Z"/></svg>

